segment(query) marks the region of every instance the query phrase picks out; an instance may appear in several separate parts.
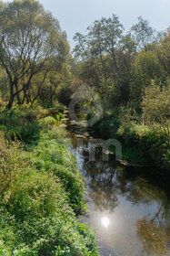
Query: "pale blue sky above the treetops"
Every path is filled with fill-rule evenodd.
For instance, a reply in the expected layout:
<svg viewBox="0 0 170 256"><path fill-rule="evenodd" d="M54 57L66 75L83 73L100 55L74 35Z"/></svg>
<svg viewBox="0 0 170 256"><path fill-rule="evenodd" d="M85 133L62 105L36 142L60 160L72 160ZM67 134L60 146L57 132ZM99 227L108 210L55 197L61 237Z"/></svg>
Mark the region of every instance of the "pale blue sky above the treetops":
<svg viewBox="0 0 170 256"><path fill-rule="evenodd" d="M85 33L95 19L112 14L119 16L125 30L137 22L138 16L148 19L157 30L170 26L170 0L39 0L52 12L65 30L73 48L76 32Z"/></svg>

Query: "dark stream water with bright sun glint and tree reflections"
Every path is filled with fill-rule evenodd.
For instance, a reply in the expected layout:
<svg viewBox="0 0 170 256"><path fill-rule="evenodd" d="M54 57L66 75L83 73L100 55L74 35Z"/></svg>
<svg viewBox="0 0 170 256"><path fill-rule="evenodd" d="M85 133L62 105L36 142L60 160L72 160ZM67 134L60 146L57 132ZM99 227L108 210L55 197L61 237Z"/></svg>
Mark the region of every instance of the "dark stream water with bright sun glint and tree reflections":
<svg viewBox="0 0 170 256"><path fill-rule="evenodd" d="M73 128L73 127L72 127ZM129 167L102 161L98 149L89 162L88 139L76 138L73 152L86 182L89 217L84 221L96 231L100 255L170 255L170 184L155 168Z"/></svg>

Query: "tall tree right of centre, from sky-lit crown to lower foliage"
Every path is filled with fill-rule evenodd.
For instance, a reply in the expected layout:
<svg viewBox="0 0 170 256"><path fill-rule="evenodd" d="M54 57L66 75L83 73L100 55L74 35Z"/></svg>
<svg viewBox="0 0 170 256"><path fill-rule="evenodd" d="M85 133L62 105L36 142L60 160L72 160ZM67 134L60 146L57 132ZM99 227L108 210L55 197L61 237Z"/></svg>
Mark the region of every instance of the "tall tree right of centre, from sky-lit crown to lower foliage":
<svg viewBox="0 0 170 256"><path fill-rule="evenodd" d="M117 93L117 103L128 101L135 53L135 43L130 35L123 36L123 30L118 16L113 15L95 20L87 27L86 35L75 35L75 57L83 61L81 78L94 86L102 98L108 100L108 91Z"/></svg>

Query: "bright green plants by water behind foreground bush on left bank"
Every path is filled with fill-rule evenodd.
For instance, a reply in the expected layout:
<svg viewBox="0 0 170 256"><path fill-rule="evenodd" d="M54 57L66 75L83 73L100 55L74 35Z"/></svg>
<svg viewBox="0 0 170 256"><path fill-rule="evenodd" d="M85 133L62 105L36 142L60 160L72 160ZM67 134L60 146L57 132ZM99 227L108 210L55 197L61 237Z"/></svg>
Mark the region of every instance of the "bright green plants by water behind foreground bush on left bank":
<svg viewBox="0 0 170 256"><path fill-rule="evenodd" d="M54 173L60 178L70 204L77 214L84 209L85 205L83 203L84 183L82 176L77 172L75 157L70 153L64 139L61 140L64 136L64 131L58 127L55 126L50 131L48 127L47 132L41 134L39 143L30 150L34 154L32 161L37 169L45 169L46 172Z"/></svg>

